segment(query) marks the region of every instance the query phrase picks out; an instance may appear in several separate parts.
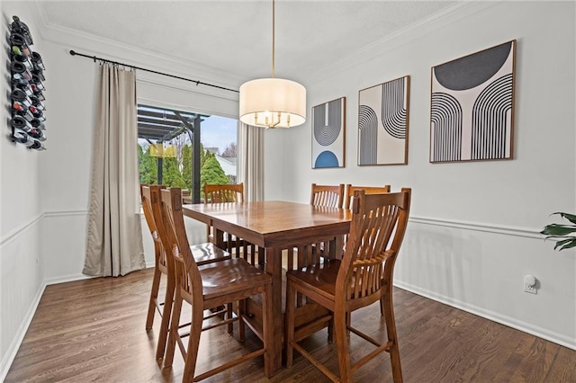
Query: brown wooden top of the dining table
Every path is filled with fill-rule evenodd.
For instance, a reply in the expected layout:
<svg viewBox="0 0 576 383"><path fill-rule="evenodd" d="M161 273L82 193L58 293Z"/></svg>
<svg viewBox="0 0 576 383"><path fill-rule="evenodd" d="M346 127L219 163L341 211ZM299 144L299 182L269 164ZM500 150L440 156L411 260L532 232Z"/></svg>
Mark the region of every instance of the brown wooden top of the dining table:
<svg viewBox="0 0 576 383"><path fill-rule="evenodd" d="M265 247L346 234L352 218L349 209L282 200L183 205L183 210L187 217Z"/></svg>

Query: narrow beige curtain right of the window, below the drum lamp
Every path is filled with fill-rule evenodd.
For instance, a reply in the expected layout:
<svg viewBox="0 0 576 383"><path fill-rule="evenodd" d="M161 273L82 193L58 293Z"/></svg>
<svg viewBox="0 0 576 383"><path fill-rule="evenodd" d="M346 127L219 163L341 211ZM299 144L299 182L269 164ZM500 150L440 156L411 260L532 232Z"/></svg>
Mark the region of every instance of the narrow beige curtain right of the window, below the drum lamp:
<svg viewBox="0 0 576 383"><path fill-rule="evenodd" d="M264 129L238 123L238 183L244 200L264 200Z"/></svg>

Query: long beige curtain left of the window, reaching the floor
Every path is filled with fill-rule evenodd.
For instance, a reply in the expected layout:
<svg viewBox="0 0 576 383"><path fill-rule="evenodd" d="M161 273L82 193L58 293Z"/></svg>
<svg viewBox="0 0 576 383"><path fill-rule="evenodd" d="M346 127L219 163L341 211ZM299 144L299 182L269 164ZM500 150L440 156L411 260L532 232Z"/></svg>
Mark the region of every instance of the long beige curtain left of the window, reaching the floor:
<svg viewBox="0 0 576 383"><path fill-rule="evenodd" d="M99 91L83 272L117 277L146 267L139 214L136 74L101 64Z"/></svg>

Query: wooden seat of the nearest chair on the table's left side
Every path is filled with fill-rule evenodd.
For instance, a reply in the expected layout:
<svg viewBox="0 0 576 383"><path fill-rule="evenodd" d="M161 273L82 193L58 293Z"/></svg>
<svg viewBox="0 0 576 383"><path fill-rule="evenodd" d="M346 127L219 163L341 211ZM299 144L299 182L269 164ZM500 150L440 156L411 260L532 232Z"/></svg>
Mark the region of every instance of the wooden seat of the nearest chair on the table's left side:
<svg viewBox="0 0 576 383"><path fill-rule="evenodd" d="M272 276L250 265L242 258L232 258L217 263L208 263L200 269L204 300L249 289L255 284L272 281ZM205 307L210 308L210 307Z"/></svg>

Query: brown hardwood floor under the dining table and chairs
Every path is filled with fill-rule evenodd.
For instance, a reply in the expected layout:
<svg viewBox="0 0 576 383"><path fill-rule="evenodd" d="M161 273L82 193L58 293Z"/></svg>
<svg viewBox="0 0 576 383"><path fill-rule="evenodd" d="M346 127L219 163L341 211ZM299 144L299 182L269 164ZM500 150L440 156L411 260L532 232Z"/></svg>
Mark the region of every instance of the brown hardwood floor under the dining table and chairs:
<svg viewBox="0 0 576 383"><path fill-rule="evenodd" d="M5 382L172 382L182 379L176 352L171 370L155 361L159 316L145 330L152 269L120 278L74 281L46 288ZM576 351L499 325L454 307L394 290L401 362L406 382L576 382ZM354 313L355 325L383 334L377 304ZM202 334L197 370L244 347L257 345L247 331L238 343L225 329ZM338 371L334 344L321 331L302 344ZM368 349L352 335L352 358ZM291 369L266 379L262 360L247 362L207 379L211 382L327 382L294 354ZM354 374L356 382L392 381L388 355Z"/></svg>

